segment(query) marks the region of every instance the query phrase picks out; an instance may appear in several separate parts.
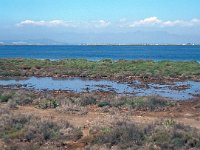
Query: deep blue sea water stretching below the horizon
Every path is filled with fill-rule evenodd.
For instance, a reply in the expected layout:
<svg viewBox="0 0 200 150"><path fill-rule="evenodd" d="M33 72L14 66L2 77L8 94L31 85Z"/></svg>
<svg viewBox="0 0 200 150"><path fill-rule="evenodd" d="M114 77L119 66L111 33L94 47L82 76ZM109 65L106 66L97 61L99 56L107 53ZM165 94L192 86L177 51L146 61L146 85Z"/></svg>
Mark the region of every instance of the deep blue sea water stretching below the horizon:
<svg viewBox="0 0 200 150"><path fill-rule="evenodd" d="M0 58L200 62L200 46L0 46Z"/></svg>

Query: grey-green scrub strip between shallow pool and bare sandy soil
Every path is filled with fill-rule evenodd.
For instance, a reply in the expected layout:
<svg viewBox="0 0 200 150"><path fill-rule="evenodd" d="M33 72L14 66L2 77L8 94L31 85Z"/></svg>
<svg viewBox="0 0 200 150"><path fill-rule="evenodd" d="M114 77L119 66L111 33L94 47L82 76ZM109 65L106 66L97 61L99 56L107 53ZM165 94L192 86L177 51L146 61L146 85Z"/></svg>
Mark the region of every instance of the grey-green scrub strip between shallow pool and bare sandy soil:
<svg viewBox="0 0 200 150"><path fill-rule="evenodd" d="M8 103L10 107L34 105L41 109L76 108L79 111L87 106L98 106L99 108L118 108L129 110L160 111L176 106L175 101L166 100L161 97L130 97L110 95L102 97L95 93L75 94L74 96L55 96L53 93L42 93L25 90L1 90L0 104Z"/></svg>

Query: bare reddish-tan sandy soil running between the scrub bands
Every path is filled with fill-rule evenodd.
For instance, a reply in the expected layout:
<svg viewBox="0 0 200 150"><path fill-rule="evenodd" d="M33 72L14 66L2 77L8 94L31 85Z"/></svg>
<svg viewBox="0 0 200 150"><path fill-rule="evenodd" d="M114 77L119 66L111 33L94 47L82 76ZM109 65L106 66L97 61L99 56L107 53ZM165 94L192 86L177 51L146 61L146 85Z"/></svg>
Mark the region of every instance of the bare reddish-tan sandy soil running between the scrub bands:
<svg viewBox="0 0 200 150"><path fill-rule="evenodd" d="M116 119L128 119L137 124L148 124L160 119L174 119L178 123L189 125L200 130L200 99L193 101L185 101L179 103L178 106L169 110L159 112L134 111L128 113L128 110L109 113L99 112L96 107L91 107L89 112L84 115L68 114L60 112L56 109L38 109L33 106L19 106L14 110L22 114L39 116L42 118L50 118L53 120L67 120L75 127L84 129L96 124L112 124Z"/></svg>

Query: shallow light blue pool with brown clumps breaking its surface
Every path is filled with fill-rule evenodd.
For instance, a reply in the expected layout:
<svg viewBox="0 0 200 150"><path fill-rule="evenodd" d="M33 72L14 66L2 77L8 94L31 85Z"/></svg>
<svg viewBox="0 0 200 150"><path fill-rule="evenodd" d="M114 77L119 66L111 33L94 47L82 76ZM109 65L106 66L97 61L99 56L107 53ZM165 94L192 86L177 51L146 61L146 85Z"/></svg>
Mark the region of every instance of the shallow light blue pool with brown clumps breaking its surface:
<svg viewBox="0 0 200 150"><path fill-rule="evenodd" d="M133 84L118 83L109 80L85 80L80 78L53 79L50 77L31 77L24 80L0 80L3 88L28 88L34 90L68 90L73 92L111 91L117 94L135 96L158 95L174 100L187 100L200 94L200 82L186 81L175 82L173 85L146 84L141 86L140 81ZM185 86L185 89L177 90L177 86Z"/></svg>

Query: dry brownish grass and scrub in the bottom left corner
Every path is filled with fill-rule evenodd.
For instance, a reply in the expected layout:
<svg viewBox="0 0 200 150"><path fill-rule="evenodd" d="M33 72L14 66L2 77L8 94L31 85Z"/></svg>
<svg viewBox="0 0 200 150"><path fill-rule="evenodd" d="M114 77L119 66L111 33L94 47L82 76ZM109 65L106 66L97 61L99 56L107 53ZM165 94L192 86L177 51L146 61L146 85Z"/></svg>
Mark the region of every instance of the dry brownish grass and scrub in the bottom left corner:
<svg viewBox="0 0 200 150"><path fill-rule="evenodd" d="M76 141L82 137L81 130L70 125L68 121L59 122L13 113L8 108L1 109L0 120L0 138L8 149L38 149L45 147L47 143L58 143L61 146L62 142Z"/></svg>

